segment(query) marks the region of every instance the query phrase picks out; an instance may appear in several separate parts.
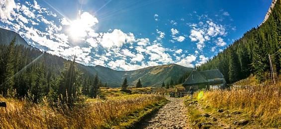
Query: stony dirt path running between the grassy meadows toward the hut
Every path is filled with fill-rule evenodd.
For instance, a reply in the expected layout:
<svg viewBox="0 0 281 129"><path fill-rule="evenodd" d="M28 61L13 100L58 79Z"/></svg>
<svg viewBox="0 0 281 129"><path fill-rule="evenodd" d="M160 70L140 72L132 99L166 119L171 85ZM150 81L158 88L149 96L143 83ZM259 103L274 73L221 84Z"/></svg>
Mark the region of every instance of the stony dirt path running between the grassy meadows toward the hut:
<svg viewBox="0 0 281 129"><path fill-rule="evenodd" d="M142 125L144 129L187 129L187 110L183 99L169 98L169 102Z"/></svg>

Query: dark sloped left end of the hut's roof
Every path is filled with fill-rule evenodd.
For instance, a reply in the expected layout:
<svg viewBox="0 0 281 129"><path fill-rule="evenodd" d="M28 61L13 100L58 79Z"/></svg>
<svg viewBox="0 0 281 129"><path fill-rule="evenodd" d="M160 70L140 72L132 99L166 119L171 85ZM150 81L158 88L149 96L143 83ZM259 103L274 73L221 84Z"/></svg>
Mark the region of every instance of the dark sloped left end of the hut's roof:
<svg viewBox="0 0 281 129"><path fill-rule="evenodd" d="M208 82L197 70L192 70L184 85Z"/></svg>

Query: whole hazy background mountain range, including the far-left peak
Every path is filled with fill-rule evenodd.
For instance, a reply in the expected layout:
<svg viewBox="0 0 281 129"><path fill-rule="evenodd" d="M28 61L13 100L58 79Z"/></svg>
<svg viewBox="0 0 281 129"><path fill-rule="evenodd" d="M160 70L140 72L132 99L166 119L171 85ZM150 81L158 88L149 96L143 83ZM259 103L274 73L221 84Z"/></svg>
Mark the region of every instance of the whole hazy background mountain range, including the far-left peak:
<svg viewBox="0 0 281 129"><path fill-rule="evenodd" d="M24 47L34 49L30 50L32 51L28 57L30 62L43 54L43 52L40 52L37 48L33 48L32 46L28 45L25 40L17 33L0 28L0 44L8 45L14 37L16 38L16 45L22 45ZM63 59L62 57L44 53L43 58L37 62L44 62L46 67L48 67L47 69L56 71L56 75L58 75L65 61L67 60ZM178 79L183 74L193 69L181 65L170 64L150 66L131 71L118 71L100 65L86 66L78 63L76 65L85 76L93 77L95 74L97 74L99 79L103 83L106 82L110 87L119 87L125 77L127 77L130 86L134 86L138 79L141 79L143 86L160 86L163 82L170 83L171 80L178 82Z"/></svg>

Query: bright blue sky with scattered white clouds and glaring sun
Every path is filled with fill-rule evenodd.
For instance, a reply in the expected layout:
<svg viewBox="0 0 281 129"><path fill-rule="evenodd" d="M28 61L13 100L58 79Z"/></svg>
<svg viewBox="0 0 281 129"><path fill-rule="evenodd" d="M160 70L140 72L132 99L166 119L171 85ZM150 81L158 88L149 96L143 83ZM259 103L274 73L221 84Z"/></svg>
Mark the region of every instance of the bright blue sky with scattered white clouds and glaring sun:
<svg viewBox="0 0 281 129"><path fill-rule="evenodd" d="M0 0L0 27L116 70L200 65L262 23L271 0Z"/></svg>

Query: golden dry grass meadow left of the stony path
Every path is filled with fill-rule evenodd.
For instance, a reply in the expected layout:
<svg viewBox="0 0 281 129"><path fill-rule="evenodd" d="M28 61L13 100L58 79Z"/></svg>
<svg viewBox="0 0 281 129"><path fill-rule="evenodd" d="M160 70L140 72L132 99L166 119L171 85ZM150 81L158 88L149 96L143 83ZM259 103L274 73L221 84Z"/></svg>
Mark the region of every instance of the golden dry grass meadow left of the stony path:
<svg viewBox="0 0 281 129"><path fill-rule="evenodd" d="M133 94L86 101L70 110L0 97L7 103L7 110L0 109L0 128L124 128L165 100L160 95Z"/></svg>

